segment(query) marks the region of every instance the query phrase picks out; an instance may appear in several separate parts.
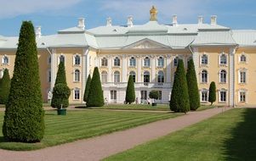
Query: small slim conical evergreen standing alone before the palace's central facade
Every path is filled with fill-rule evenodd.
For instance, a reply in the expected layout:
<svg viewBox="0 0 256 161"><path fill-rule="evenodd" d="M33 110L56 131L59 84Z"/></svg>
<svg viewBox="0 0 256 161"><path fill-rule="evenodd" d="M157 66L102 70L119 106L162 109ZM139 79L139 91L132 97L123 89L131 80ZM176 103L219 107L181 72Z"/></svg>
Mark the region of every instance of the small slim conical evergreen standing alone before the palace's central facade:
<svg viewBox="0 0 256 161"><path fill-rule="evenodd" d="M126 88L125 102L131 104L131 103L134 103L134 101L135 101L134 79L132 75L129 75L128 85Z"/></svg>

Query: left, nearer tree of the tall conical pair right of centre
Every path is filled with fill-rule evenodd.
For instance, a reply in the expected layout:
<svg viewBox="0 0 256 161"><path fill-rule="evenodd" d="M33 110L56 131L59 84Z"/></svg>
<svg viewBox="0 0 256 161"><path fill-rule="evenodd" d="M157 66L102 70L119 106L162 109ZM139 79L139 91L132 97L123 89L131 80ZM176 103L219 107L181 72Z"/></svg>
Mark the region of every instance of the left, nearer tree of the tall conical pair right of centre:
<svg viewBox="0 0 256 161"><path fill-rule="evenodd" d="M179 59L179 64L174 76L174 86L170 100L170 109L174 112L182 113L186 113L190 110L189 92L182 59Z"/></svg>

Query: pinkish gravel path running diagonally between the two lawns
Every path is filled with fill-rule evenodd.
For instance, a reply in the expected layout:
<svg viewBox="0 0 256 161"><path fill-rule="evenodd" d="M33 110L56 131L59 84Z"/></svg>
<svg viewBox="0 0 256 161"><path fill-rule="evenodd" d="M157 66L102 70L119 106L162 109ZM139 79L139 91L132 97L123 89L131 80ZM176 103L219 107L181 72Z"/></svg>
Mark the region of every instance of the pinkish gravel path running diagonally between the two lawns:
<svg viewBox="0 0 256 161"><path fill-rule="evenodd" d="M156 121L129 130L114 132L77 142L66 143L56 147L47 147L31 152L14 152L0 150L2 161L94 161L120 153L129 148L166 136L176 130L208 119L230 108L212 108L200 112L190 112L174 119Z"/></svg>

